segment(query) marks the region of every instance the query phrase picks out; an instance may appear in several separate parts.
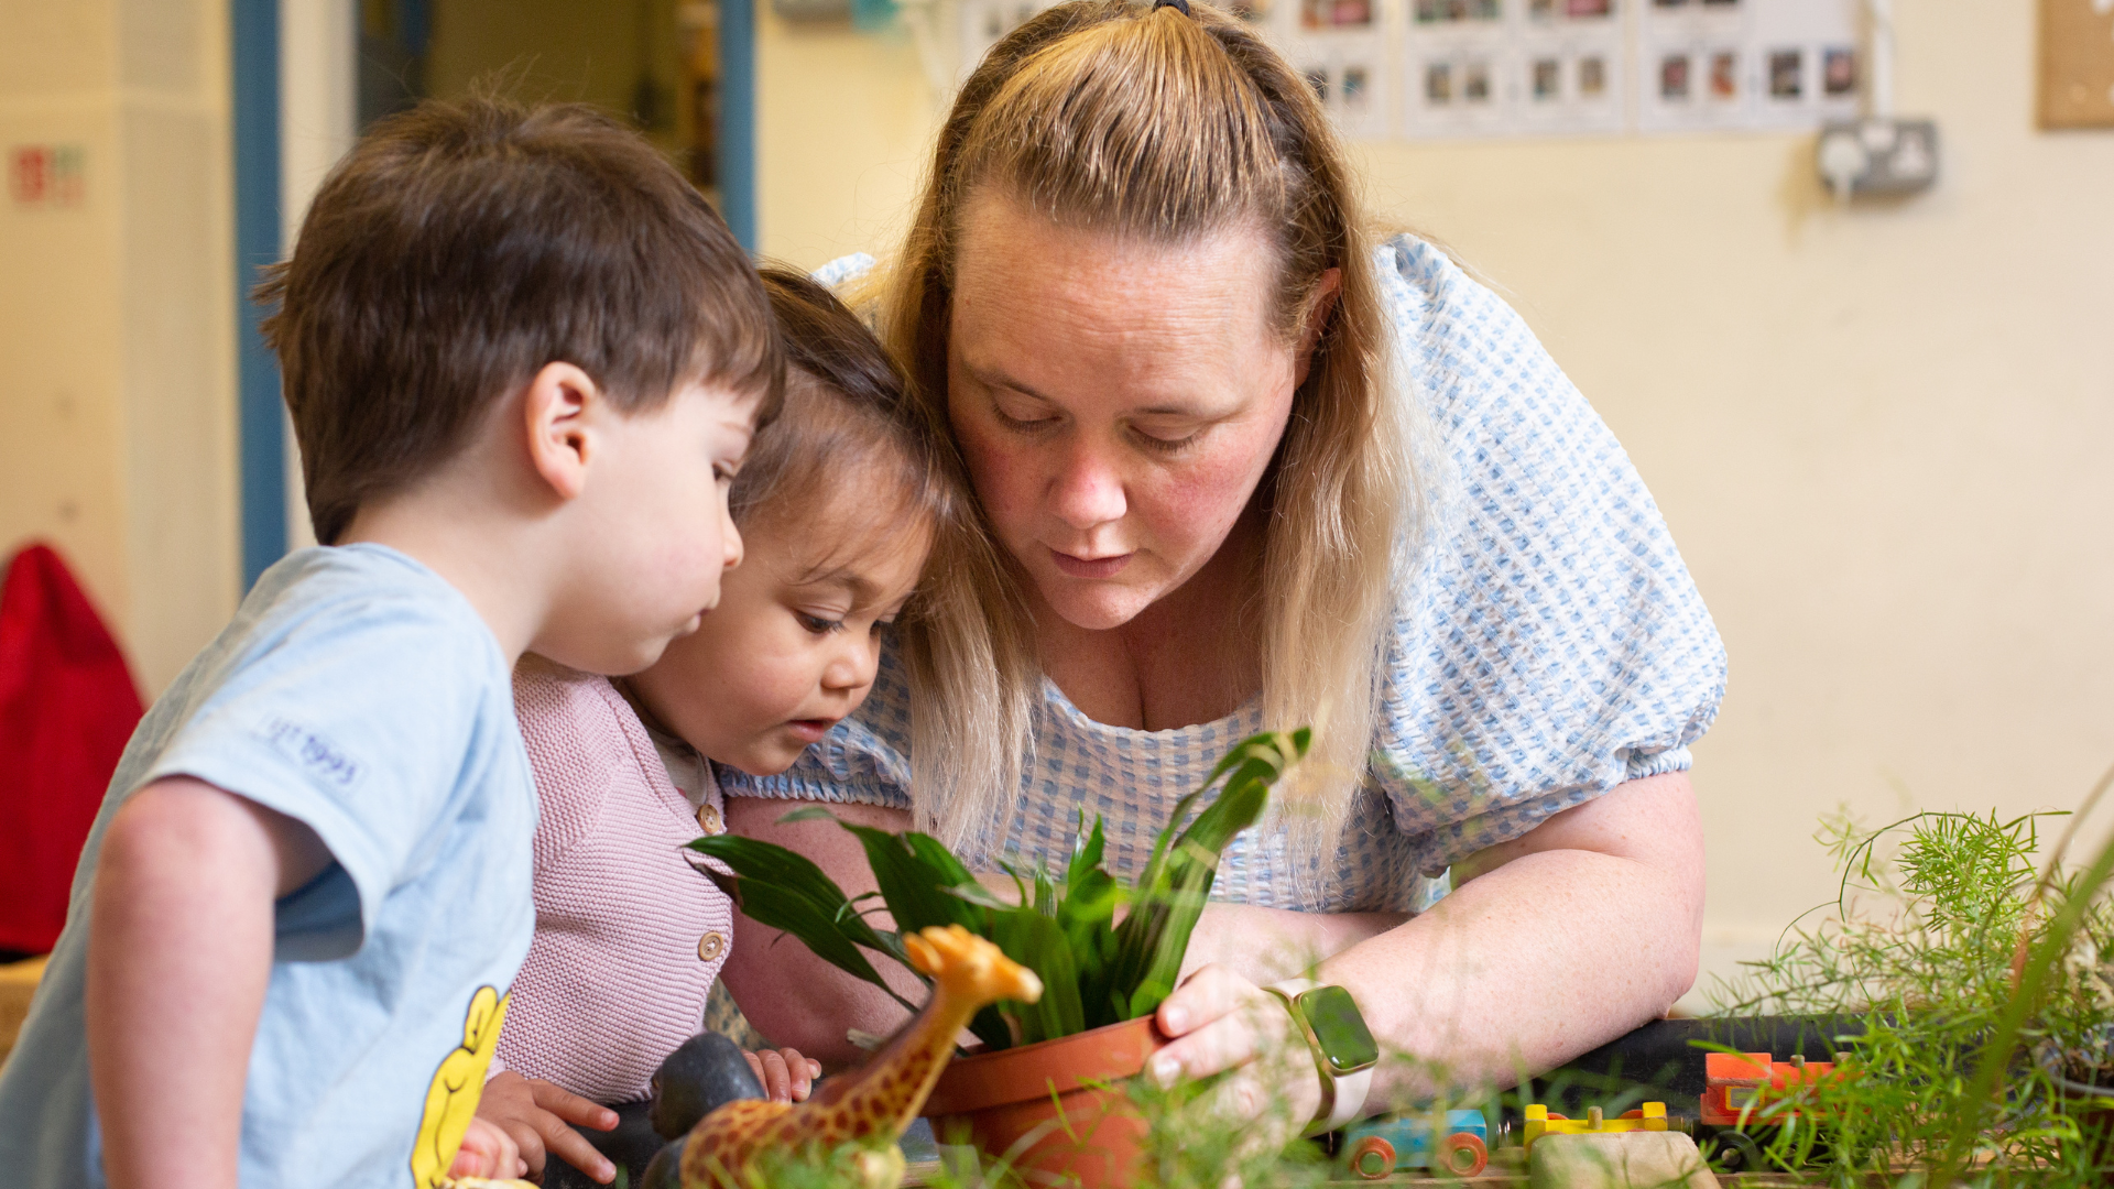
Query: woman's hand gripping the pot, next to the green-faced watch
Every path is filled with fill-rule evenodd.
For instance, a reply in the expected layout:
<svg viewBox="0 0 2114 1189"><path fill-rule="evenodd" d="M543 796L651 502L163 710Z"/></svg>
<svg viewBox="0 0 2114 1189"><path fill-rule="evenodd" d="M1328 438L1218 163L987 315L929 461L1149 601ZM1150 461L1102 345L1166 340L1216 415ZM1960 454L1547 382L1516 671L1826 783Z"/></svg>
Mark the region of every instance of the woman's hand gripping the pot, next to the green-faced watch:
<svg viewBox="0 0 2114 1189"><path fill-rule="evenodd" d="M1209 965L1161 1003L1161 1032L1175 1037L1148 1073L1163 1087L1232 1071L1201 1100L1228 1119L1260 1123L1258 1142L1292 1140L1321 1109L1321 1075L1283 1001Z"/></svg>

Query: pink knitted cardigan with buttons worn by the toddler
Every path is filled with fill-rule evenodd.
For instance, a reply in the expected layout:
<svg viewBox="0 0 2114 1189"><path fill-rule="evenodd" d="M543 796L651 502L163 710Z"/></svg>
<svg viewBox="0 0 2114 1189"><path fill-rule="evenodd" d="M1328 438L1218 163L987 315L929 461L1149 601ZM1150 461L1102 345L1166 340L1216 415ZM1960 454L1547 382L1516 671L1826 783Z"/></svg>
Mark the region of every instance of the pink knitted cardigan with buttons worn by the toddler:
<svg viewBox="0 0 2114 1189"><path fill-rule="evenodd" d="M499 1060L596 1102L636 1102L698 1032L734 906L689 867L702 834L645 724L602 677L528 658L514 709L535 766L535 941ZM721 821L706 779L704 817Z"/></svg>

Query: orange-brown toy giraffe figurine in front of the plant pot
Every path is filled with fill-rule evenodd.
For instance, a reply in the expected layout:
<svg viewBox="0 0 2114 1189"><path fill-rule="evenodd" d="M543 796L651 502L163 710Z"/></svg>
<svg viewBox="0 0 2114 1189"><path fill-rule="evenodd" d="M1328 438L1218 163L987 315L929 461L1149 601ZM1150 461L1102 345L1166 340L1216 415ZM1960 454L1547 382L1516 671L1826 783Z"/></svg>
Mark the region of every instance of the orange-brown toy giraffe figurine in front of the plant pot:
<svg viewBox="0 0 2114 1189"><path fill-rule="evenodd" d="M852 1140L873 1142L856 1157L867 1189L894 1189L903 1181L896 1136L924 1109L953 1058L953 1039L987 1003L1042 999L1042 980L1034 971L960 925L909 933L903 950L913 967L932 975L932 999L924 1011L865 1066L831 1079L808 1102L789 1106L744 1098L700 1119L683 1147L683 1189L738 1185L761 1151L835 1149Z"/></svg>

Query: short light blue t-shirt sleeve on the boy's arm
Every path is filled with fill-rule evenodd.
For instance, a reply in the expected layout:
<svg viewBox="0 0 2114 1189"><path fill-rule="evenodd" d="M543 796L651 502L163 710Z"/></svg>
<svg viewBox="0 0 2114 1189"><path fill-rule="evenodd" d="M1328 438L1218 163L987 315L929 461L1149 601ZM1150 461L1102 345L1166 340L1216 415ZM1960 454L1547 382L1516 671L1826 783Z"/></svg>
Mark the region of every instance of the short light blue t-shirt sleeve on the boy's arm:
<svg viewBox="0 0 2114 1189"><path fill-rule="evenodd" d="M260 641L142 785L194 776L313 829L334 865L279 901L279 956L340 958L433 861L465 764L495 751L478 732L495 730L482 698L505 696L497 666L482 624L440 601L338 599Z"/></svg>

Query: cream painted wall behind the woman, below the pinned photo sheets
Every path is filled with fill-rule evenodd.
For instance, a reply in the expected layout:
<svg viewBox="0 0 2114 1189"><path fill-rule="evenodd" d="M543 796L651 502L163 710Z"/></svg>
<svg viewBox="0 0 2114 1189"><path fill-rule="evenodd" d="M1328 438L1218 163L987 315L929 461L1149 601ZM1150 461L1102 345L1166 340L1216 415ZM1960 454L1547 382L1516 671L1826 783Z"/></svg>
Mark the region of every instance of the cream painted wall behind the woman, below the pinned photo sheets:
<svg viewBox="0 0 2114 1189"><path fill-rule="evenodd" d="M1833 895L1822 812L2074 806L2114 762L2114 133L2034 131L2032 6L1896 23L1945 157L1896 205L1831 205L1810 135L1357 152L1615 427L1725 635L1717 971ZM759 44L765 250L884 252L939 118L909 47Z"/></svg>

